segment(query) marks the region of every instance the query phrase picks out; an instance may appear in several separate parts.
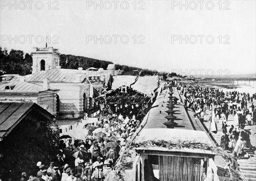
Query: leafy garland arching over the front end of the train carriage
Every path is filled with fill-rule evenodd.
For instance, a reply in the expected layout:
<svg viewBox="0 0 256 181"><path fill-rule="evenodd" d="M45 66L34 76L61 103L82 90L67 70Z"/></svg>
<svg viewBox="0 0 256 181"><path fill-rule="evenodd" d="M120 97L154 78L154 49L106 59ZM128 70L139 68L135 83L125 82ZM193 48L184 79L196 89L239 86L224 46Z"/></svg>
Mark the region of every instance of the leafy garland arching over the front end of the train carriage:
<svg viewBox="0 0 256 181"><path fill-rule="evenodd" d="M187 141L178 141L173 143L172 141L164 141L164 140L149 140L149 141L142 141L139 143L134 142L128 142L127 147L125 148L125 151L120 156L119 164L116 166L117 170L117 178L122 177L121 172L124 172L126 169L132 167L132 162L128 161L131 158L131 151L135 152L135 149L138 147L161 147L161 148L168 148L168 149L183 149L183 148L189 148L189 149L202 149L202 150L209 150L213 153L216 153L216 155L220 155L222 158L224 158L224 161L227 165L227 169L229 170L229 178L227 178L225 181L239 181L239 169L236 161L236 157L232 155L231 153L228 153L221 149L220 147L212 147L208 144L203 143L194 143L194 142L187 142Z"/></svg>

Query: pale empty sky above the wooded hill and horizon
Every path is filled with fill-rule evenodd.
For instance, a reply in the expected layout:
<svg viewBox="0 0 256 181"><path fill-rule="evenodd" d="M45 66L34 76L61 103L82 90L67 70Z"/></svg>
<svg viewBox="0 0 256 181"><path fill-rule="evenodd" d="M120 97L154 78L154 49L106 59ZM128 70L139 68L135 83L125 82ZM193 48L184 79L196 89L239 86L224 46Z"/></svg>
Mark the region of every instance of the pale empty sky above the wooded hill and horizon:
<svg viewBox="0 0 256 181"><path fill-rule="evenodd" d="M181 75L256 73L255 0L0 4L0 46L8 50L30 53L48 40L61 54Z"/></svg>

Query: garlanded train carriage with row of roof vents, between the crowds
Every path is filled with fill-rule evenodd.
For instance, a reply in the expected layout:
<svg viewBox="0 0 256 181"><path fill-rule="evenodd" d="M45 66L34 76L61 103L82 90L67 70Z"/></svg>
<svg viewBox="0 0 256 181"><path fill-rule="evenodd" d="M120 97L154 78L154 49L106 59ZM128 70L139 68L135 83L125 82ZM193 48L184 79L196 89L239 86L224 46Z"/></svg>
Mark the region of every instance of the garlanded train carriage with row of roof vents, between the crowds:
<svg viewBox="0 0 256 181"><path fill-rule="evenodd" d="M105 181L220 180L216 152L204 149L204 145L216 145L191 119L194 113L187 109L185 100L176 87L163 87L128 144L133 149L120 155ZM122 169L124 164L129 167Z"/></svg>

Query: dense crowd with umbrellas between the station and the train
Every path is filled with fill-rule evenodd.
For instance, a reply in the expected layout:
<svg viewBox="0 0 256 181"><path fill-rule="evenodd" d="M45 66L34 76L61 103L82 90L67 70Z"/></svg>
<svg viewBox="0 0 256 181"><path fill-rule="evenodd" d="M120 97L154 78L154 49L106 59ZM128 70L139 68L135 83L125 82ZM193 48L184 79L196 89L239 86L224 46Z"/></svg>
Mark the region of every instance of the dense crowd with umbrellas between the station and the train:
<svg viewBox="0 0 256 181"><path fill-rule="evenodd" d="M48 166L39 161L37 174L27 178L23 172L21 181L103 181L138 125L134 115L100 117L84 126L88 132L84 140L61 139L56 161Z"/></svg>

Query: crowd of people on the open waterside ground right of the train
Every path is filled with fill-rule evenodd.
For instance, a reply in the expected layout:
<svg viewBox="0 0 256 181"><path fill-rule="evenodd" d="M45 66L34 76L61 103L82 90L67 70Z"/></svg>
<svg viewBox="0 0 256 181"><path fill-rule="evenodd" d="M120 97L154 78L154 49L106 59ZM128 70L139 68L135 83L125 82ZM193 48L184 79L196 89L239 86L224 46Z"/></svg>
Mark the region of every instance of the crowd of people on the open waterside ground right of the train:
<svg viewBox="0 0 256 181"><path fill-rule="evenodd" d="M256 109L253 104L256 94L250 96L249 93L223 92L215 88L185 84L180 84L178 89L188 100L187 105L195 111L194 116L198 116L200 121L204 121L204 115L209 114L207 110L213 111L215 118L218 117L222 121L220 146L224 150L229 150L241 158L244 149L251 149L251 133L244 127L246 124L256 124ZM249 102L251 106L247 105ZM231 125L227 130L230 115L234 115L235 125Z"/></svg>

